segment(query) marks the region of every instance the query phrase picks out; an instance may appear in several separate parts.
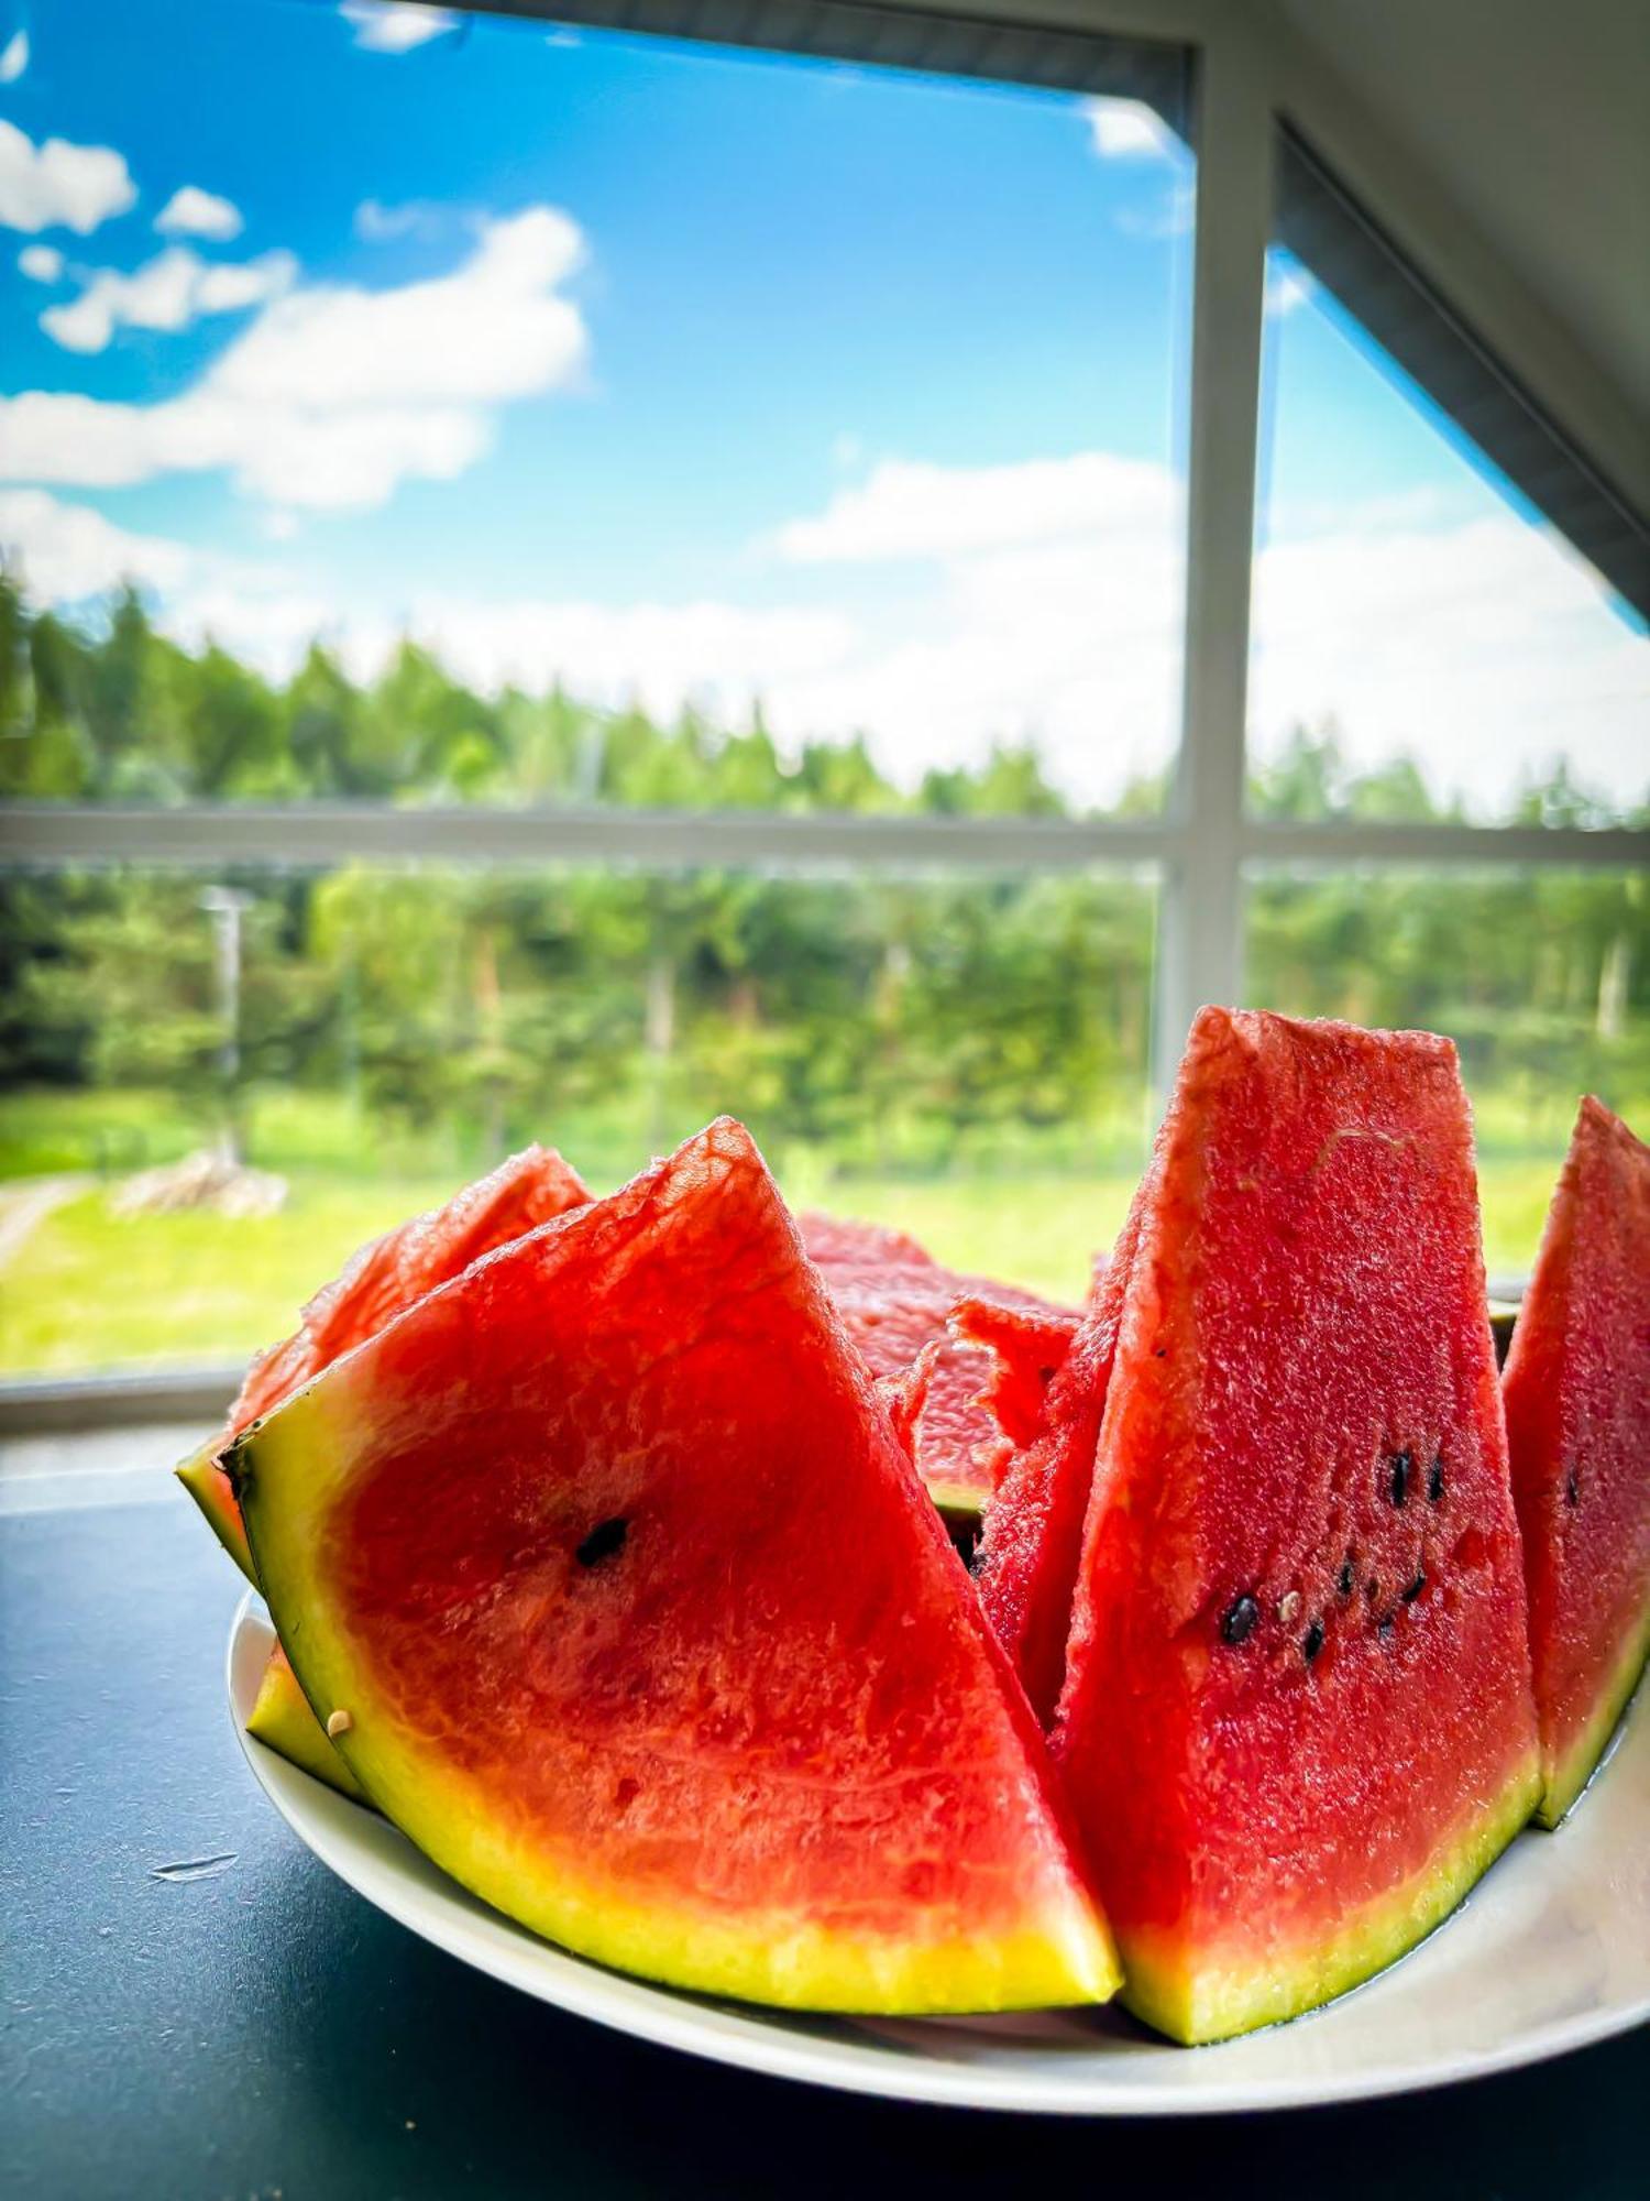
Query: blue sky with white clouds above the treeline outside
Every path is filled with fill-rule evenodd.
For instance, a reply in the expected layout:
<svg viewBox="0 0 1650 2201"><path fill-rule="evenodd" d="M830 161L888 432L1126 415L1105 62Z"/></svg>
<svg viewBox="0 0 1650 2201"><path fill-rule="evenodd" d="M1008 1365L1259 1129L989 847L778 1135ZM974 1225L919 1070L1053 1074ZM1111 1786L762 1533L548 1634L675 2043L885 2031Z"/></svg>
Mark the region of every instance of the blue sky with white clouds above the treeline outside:
<svg viewBox="0 0 1650 2201"><path fill-rule="evenodd" d="M321 0L0 0L7 77L0 539L40 594L134 570L273 667L414 627L477 680L759 693L906 775L1164 759L1190 161L1142 114ZM1278 275L1256 737L1335 711L1492 808L1542 746L1643 779L1626 629ZM1463 548L1518 682L1494 601L1417 605Z"/></svg>

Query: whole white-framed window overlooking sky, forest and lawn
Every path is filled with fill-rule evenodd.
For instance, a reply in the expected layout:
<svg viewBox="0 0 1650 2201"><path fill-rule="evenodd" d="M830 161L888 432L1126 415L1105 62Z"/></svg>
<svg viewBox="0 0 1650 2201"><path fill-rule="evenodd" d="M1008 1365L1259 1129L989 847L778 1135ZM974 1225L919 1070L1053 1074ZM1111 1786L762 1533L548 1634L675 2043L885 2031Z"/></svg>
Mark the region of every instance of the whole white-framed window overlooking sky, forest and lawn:
<svg viewBox="0 0 1650 2201"><path fill-rule="evenodd" d="M238 1356L513 1140L724 1105L1076 1296L1239 995L1454 1032L1529 1263L1575 1092L1650 1100L1646 530L1283 24L1096 15L42 26L0 1382ZM222 1134L282 1208L128 1197Z"/></svg>

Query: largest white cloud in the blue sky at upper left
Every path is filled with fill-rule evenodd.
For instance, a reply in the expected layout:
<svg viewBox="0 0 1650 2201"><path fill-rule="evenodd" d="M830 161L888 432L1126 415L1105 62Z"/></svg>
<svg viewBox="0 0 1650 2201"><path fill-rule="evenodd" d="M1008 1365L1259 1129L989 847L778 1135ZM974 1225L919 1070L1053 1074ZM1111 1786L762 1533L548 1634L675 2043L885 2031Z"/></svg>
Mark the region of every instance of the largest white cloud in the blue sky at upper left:
<svg viewBox="0 0 1650 2201"><path fill-rule="evenodd" d="M332 511L383 504L407 478L453 480L488 445L486 407L579 376L585 324L559 284L581 255L568 216L530 207L486 225L451 275L290 291L161 405L0 398L0 464L88 489L227 467L242 491ZM205 271L216 304L196 293L198 310L222 310L233 275Z"/></svg>

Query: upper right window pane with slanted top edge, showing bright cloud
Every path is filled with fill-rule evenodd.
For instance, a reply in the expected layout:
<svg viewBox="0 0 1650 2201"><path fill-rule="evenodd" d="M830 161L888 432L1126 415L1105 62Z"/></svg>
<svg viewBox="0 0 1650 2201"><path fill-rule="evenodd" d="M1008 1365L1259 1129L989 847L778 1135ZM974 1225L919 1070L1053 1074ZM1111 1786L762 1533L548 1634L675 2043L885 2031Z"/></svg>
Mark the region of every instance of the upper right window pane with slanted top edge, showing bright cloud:
<svg viewBox="0 0 1650 2201"><path fill-rule="evenodd" d="M1283 249L1265 343L1252 808L1650 817L1643 623Z"/></svg>

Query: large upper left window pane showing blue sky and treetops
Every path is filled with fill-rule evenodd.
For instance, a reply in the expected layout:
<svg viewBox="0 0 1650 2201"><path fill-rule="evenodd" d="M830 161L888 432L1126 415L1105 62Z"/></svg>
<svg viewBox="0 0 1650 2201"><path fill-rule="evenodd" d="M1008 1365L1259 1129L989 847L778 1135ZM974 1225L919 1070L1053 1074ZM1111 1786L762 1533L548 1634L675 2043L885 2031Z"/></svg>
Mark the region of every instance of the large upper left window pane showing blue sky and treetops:
<svg viewBox="0 0 1650 2201"><path fill-rule="evenodd" d="M0 541L119 643L9 792L1157 803L1151 110L286 0L86 0L7 110L95 205L0 266Z"/></svg>

